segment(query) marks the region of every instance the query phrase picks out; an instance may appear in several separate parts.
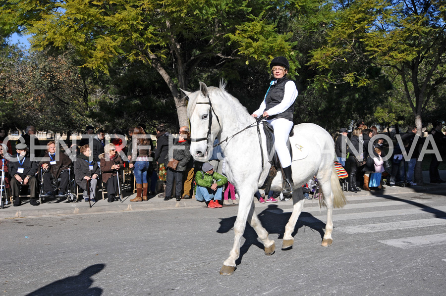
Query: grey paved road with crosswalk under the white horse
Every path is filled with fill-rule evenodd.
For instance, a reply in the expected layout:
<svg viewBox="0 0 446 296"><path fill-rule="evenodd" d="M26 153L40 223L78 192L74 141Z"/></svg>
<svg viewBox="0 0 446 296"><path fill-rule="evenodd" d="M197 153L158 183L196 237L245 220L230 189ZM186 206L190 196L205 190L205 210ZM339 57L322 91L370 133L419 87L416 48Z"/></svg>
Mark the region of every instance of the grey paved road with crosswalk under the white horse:
<svg viewBox="0 0 446 296"><path fill-rule="evenodd" d="M291 202L257 203L276 253L248 227L228 277L236 206L2 219L1 295L444 295L444 195L348 200L332 247L320 247L325 210L308 202L286 251Z"/></svg>

